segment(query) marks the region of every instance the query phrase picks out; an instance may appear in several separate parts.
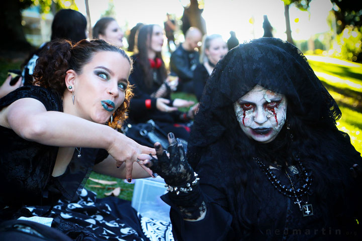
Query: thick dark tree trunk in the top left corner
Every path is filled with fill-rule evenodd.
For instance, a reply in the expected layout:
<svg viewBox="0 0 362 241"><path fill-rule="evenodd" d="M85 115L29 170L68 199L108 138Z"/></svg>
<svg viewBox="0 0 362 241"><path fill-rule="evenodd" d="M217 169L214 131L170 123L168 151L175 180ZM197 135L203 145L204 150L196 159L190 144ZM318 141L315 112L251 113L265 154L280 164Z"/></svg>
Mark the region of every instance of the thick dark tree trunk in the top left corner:
<svg viewBox="0 0 362 241"><path fill-rule="evenodd" d="M3 1L0 11L0 51L30 51L31 44L25 38L19 1Z"/></svg>

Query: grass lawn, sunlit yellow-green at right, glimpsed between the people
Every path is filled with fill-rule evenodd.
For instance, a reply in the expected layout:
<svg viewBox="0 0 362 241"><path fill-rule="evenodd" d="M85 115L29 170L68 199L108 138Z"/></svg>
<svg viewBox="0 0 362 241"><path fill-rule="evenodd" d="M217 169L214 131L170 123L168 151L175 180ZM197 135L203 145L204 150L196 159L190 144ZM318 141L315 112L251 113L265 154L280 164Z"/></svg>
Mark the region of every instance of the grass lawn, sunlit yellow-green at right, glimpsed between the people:
<svg viewBox="0 0 362 241"><path fill-rule="evenodd" d="M347 133L351 138L352 145L358 152L362 152L362 65L336 59L307 56L316 75L324 86L337 101L342 117L337 122L339 130ZM7 76L8 69L19 68L19 63L9 63L0 60L0 82ZM185 98L196 101L192 94L175 93L172 98ZM125 183L123 180L109 176L92 173L94 179L117 181L114 185L103 185L88 180L86 188L97 192L98 197L104 197L104 193L110 192L115 187L121 188L120 198L131 200L133 184ZM101 187L92 187L98 185Z"/></svg>

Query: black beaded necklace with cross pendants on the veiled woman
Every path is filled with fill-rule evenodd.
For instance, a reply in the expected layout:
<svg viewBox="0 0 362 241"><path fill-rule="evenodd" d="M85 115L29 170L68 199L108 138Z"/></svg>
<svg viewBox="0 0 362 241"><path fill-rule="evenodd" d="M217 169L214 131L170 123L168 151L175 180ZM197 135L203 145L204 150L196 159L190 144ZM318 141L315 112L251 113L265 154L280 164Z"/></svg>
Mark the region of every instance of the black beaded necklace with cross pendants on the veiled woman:
<svg viewBox="0 0 362 241"><path fill-rule="evenodd" d="M283 195L289 198L295 198L295 204L298 204L299 210L303 212L303 216L311 216L313 215L313 207L312 204L308 204L308 201L305 201L305 205L301 205L302 196L308 195L308 191L312 184L312 178L307 173L305 167L303 167L302 163L299 161L298 166L301 169L301 176L304 184L301 188L295 189L292 179L290 178L288 172L286 171L286 176L291 183L291 188L287 188L286 185L283 185L280 180L277 179L277 176L274 174L272 170L268 166L266 166L259 158L255 158L256 163L259 165L260 170L266 175L267 179L272 183L272 185ZM294 167L295 168L295 167Z"/></svg>

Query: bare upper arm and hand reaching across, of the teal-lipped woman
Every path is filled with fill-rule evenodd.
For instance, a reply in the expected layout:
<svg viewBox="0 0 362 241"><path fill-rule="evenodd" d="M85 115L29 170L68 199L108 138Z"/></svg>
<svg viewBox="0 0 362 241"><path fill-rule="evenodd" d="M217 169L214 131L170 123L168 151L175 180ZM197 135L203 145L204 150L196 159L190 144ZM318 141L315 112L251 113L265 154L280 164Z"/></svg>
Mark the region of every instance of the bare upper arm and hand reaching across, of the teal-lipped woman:
<svg viewBox="0 0 362 241"><path fill-rule="evenodd" d="M0 125L20 137L49 146L106 149L116 160L125 162L126 178L131 178L132 163L139 154L155 154L112 128L71 114L47 111L33 98L19 99L0 111Z"/></svg>

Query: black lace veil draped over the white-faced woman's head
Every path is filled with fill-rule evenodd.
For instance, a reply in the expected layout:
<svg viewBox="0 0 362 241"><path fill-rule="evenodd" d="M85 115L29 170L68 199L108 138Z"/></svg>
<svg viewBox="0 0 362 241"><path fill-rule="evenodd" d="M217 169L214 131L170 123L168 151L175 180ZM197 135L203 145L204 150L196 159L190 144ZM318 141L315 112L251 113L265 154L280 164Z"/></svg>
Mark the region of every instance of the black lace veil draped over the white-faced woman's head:
<svg viewBox="0 0 362 241"><path fill-rule="evenodd" d="M285 94L288 108L308 124L335 125L341 112L294 45L261 38L230 50L205 86L190 146L206 146L231 127L226 109L256 84ZM205 130L208 130L205 132Z"/></svg>

